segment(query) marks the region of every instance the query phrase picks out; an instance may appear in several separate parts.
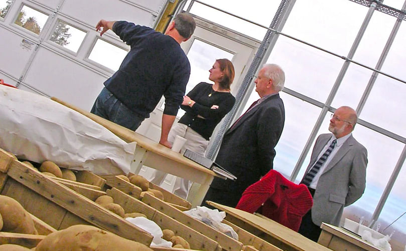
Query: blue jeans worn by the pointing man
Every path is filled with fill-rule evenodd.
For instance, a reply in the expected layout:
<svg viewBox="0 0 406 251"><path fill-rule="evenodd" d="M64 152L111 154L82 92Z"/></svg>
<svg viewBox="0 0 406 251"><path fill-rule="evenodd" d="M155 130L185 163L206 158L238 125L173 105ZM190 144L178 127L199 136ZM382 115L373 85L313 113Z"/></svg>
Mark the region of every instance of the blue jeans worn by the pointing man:
<svg viewBox="0 0 406 251"><path fill-rule="evenodd" d="M90 112L133 131L137 130L145 119L128 109L105 87L94 101Z"/></svg>

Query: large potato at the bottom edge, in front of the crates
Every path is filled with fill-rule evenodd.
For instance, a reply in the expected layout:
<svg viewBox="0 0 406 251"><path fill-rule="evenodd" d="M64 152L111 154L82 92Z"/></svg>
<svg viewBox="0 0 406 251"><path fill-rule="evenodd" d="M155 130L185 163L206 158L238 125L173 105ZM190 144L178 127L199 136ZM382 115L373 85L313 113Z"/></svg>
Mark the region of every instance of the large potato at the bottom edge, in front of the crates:
<svg viewBox="0 0 406 251"><path fill-rule="evenodd" d="M36 251L153 251L139 242L125 239L95 226L73 225L48 234Z"/></svg>

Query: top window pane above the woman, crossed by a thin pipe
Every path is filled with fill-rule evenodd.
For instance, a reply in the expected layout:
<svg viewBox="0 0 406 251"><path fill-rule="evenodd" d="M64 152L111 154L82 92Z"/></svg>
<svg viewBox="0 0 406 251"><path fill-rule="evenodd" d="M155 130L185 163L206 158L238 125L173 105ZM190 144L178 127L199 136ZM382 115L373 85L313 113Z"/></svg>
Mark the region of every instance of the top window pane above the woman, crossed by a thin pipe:
<svg viewBox="0 0 406 251"><path fill-rule="evenodd" d="M188 1L186 4L185 10L189 6L189 2L190 1ZM269 27L270 23L272 23L274 15L276 14L280 4L280 1L261 0L252 0L249 2L249 4L243 1L234 0L205 0L202 2L265 27ZM190 13L258 40L262 40L267 31L264 28L196 2L193 4Z"/></svg>

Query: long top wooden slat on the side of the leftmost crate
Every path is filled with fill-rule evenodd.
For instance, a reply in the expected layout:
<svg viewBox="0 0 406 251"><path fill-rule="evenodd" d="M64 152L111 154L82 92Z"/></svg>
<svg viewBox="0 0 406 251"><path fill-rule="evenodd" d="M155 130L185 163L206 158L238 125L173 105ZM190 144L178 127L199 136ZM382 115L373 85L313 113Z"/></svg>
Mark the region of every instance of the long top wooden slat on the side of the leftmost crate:
<svg viewBox="0 0 406 251"><path fill-rule="evenodd" d="M146 245L152 241L152 235L146 231L18 161L11 164L8 175L97 227Z"/></svg>

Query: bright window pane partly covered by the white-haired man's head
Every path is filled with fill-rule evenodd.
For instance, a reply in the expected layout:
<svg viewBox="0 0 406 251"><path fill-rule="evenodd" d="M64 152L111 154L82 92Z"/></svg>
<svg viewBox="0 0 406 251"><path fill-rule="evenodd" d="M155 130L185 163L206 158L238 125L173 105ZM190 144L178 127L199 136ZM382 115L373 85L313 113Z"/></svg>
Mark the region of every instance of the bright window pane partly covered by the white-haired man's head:
<svg viewBox="0 0 406 251"><path fill-rule="evenodd" d="M287 88L325 102L344 61L280 37L267 63L276 63L284 69Z"/></svg>

